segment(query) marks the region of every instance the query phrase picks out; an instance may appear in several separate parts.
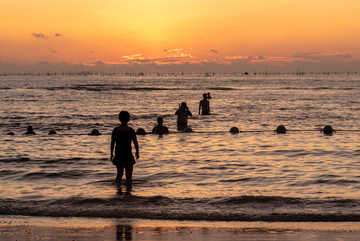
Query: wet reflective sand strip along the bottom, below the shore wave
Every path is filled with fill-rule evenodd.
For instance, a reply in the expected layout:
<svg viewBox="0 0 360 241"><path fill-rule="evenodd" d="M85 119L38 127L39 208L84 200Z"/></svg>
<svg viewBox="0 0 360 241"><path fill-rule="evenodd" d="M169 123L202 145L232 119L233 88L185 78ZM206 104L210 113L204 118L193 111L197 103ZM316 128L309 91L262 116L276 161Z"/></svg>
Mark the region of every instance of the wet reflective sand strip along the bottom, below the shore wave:
<svg viewBox="0 0 360 241"><path fill-rule="evenodd" d="M0 216L0 240L355 241L360 240L360 224Z"/></svg>

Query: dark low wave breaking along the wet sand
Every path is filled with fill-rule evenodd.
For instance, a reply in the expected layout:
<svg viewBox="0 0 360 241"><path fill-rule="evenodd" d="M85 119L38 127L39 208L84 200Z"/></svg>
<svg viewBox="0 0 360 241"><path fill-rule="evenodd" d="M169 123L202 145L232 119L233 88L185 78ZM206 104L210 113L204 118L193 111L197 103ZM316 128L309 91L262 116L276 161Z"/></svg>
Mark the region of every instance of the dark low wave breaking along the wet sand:
<svg viewBox="0 0 360 241"><path fill-rule="evenodd" d="M0 214L206 221L359 222L360 200L272 196L169 198L119 195L22 201L0 199ZM328 210L331 210L329 212Z"/></svg>

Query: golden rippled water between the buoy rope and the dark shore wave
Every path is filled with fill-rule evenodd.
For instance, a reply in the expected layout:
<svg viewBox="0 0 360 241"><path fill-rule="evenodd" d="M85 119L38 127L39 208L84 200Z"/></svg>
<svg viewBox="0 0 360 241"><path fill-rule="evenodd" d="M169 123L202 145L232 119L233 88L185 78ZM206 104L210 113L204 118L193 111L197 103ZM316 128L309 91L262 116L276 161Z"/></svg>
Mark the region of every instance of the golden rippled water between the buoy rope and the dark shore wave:
<svg viewBox="0 0 360 241"><path fill-rule="evenodd" d="M135 195L360 197L355 160L360 144L353 133L189 133L138 139ZM107 135L15 136L1 142L9 160L25 158L2 162L8 171L1 182L3 195L36 199L116 193Z"/></svg>

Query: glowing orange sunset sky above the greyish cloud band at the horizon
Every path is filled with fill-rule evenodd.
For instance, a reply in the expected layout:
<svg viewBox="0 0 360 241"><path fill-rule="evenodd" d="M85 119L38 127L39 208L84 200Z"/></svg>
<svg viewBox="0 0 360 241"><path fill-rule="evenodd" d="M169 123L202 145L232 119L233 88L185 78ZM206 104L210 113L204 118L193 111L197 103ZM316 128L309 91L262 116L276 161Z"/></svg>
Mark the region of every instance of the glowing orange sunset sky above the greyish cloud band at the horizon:
<svg viewBox="0 0 360 241"><path fill-rule="evenodd" d="M360 59L358 0L2 0L0 62Z"/></svg>

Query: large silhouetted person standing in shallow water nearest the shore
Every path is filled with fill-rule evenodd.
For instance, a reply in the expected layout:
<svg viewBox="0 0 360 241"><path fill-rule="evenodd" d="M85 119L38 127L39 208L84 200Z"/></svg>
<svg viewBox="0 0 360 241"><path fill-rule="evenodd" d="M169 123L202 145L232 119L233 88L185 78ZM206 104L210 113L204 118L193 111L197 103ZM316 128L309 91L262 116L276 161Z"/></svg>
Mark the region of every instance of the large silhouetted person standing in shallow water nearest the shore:
<svg viewBox="0 0 360 241"><path fill-rule="evenodd" d="M136 163L132 153L131 142L133 142L135 146L136 159L139 158L139 144L136 139L135 130L127 125L130 120L129 112L121 111L119 113L119 120L121 124L115 127L111 134L110 160L117 168L116 183L121 184L125 169L126 186L131 188L133 166Z"/></svg>

